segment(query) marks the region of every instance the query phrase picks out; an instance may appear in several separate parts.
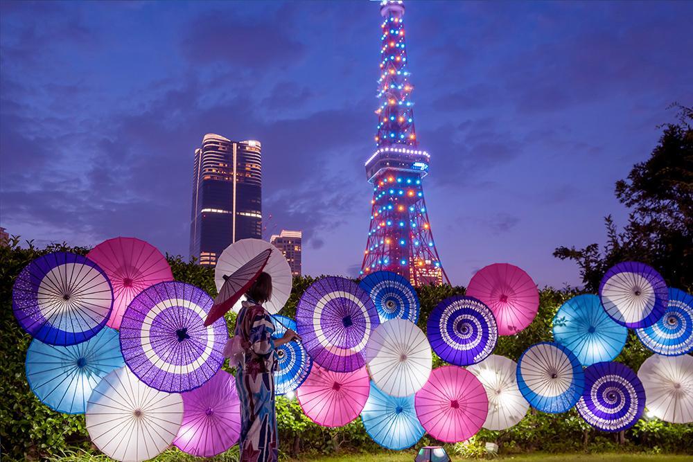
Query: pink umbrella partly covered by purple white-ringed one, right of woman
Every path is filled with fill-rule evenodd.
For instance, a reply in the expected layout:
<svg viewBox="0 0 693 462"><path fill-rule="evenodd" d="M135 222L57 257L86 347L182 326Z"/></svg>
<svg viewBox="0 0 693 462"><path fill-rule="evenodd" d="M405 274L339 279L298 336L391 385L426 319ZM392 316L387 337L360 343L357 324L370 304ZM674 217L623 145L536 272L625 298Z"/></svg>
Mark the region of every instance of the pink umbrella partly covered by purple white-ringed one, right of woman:
<svg viewBox="0 0 693 462"><path fill-rule="evenodd" d="M358 417L370 390L365 366L352 372L334 372L313 363L297 398L304 414L317 425L342 427Z"/></svg>

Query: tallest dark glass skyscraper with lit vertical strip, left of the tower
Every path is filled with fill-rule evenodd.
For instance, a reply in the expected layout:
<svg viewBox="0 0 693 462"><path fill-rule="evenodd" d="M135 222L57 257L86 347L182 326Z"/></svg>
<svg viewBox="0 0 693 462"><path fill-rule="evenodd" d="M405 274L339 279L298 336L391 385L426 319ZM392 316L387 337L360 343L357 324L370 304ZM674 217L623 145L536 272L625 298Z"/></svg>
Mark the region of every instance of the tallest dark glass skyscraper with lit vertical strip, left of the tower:
<svg viewBox="0 0 693 462"><path fill-rule="evenodd" d="M213 266L226 247L245 238L262 238L260 142L208 133L195 150L190 254Z"/></svg>

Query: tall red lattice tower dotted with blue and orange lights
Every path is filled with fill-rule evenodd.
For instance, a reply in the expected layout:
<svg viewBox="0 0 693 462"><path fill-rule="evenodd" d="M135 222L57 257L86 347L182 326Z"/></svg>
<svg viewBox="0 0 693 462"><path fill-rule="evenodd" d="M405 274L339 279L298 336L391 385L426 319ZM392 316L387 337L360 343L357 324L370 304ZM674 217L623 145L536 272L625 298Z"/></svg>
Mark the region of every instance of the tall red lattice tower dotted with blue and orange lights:
<svg viewBox="0 0 693 462"><path fill-rule="evenodd" d="M380 3L383 48L378 80L376 152L366 161L373 184L371 226L361 274L387 269L414 285L448 281L428 221L423 177L430 156L419 150L414 131L412 84L407 72L404 5ZM448 281L449 282L449 281Z"/></svg>

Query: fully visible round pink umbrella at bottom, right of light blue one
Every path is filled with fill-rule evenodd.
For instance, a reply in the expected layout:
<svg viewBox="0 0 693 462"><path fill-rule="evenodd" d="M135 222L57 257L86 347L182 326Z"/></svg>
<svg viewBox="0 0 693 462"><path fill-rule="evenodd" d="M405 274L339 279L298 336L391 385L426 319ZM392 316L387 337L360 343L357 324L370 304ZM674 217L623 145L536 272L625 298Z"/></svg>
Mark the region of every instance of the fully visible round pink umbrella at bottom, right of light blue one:
<svg viewBox="0 0 693 462"><path fill-rule="evenodd" d="M475 375L457 366L435 369L414 398L416 416L433 438L465 441L484 425L489 398Z"/></svg>

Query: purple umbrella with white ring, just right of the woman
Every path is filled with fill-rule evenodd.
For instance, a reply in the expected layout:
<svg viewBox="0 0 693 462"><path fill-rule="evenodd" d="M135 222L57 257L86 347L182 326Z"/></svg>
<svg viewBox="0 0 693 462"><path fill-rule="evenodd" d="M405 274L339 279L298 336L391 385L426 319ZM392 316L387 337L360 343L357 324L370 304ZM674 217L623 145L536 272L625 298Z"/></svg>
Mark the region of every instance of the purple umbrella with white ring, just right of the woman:
<svg viewBox="0 0 693 462"><path fill-rule="evenodd" d="M313 361L331 371L350 372L365 364L366 343L380 320L373 301L356 283L327 277L301 296L296 324Z"/></svg>

